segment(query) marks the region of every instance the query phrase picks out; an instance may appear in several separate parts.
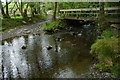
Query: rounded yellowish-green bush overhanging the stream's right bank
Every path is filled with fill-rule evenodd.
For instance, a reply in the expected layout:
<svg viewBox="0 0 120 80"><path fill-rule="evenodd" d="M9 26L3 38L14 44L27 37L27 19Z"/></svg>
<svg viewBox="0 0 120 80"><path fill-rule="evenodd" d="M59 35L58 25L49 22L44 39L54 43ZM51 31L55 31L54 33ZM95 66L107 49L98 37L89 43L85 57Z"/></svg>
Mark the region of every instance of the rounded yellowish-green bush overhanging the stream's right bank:
<svg viewBox="0 0 120 80"><path fill-rule="evenodd" d="M106 59L113 59L119 53L118 38L97 40L91 47L91 53L98 55L101 62Z"/></svg>

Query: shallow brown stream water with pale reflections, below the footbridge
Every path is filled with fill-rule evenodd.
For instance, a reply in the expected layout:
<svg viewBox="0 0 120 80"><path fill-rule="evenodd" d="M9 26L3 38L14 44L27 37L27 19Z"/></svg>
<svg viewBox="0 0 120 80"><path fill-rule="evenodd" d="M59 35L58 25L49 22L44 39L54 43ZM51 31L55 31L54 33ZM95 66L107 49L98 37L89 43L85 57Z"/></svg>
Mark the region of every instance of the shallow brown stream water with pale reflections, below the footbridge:
<svg viewBox="0 0 120 80"><path fill-rule="evenodd" d="M85 26L85 25L84 25ZM84 27L83 26L83 27ZM1 78L77 78L89 70L92 56L90 45L93 30L74 28L82 35L60 32L52 35L14 37L0 45ZM86 28L86 29L85 29ZM87 32L86 32L87 30ZM60 37L64 40L57 41ZM26 49L21 47L26 45ZM48 50L47 46L52 49Z"/></svg>

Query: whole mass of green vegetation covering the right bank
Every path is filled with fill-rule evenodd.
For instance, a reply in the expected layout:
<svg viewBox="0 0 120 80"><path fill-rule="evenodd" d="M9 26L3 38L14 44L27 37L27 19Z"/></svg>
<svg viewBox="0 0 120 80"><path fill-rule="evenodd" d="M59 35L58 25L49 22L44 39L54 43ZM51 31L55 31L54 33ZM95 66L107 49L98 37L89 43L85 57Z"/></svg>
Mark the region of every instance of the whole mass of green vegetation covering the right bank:
<svg viewBox="0 0 120 80"><path fill-rule="evenodd" d="M114 77L120 77L120 38L110 30L103 31L101 39L91 46L91 53L98 56L100 64L97 68L110 69ZM107 66L106 66L107 65Z"/></svg>

